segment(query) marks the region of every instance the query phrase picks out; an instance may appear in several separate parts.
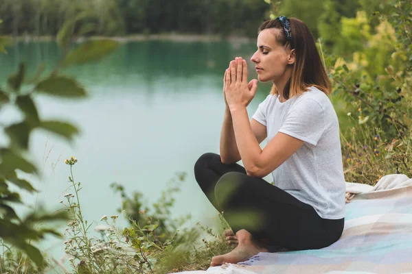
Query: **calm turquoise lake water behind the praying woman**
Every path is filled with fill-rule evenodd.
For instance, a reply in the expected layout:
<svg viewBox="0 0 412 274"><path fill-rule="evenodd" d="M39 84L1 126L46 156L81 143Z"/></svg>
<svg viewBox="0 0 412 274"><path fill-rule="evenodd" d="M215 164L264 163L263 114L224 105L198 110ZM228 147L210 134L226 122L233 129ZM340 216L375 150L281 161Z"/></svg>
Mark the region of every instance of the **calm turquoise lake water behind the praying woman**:
<svg viewBox="0 0 412 274"><path fill-rule="evenodd" d="M185 172L172 216L192 214L189 225L197 221L211 224L217 211L197 186L193 166L201 154L219 150L225 69L230 60L242 56L249 61L249 77L257 77L250 61L254 51L255 42L127 42L98 63L62 71L76 77L89 97L38 95L34 100L41 119L69 121L81 134L73 143L40 130L32 134L30 155L42 176L23 177L40 192L21 192L23 200L29 206L37 200L49 210L61 208L63 195L73 192L68 190L69 167L64 164L73 155L78 158L74 179L82 182L80 202L89 222L98 224L104 214L117 214L121 199L111 190L111 183L123 184L129 194L142 192L150 204L175 173ZM21 61L27 62L30 77L40 64L51 71L59 58L54 42L16 43L7 55L0 55L0 83L5 84ZM248 107L249 116L270 88L270 84L260 84ZM21 114L12 108L0 111L1 123L19 119ZM1 132L0 145L7 142ZM64 228L60 227L61 232ZM62 256L62 240L49 239L42 247L51 247L56 258Z"/></svg>

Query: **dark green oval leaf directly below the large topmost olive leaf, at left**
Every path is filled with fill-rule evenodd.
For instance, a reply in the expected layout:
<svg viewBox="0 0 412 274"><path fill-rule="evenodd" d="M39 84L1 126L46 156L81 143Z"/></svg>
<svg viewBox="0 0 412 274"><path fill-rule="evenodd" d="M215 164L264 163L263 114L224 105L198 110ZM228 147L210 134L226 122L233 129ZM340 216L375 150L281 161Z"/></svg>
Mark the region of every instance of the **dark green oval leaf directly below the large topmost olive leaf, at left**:
<svg viewBox="0 0 412 274"><path fill-rule="evenodd" d="M60 97L86 97L86 90L76 80L65 76L51 76L38 83L35 89Z"/></svg>

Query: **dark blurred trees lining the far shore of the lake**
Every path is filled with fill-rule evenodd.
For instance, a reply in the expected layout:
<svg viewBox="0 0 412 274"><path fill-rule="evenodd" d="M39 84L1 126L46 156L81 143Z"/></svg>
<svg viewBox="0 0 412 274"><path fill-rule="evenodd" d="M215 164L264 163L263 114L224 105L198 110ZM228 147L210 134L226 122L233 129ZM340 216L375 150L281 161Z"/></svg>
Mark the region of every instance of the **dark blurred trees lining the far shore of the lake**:
<svg viewBox="0 0 412 274"><path fill-rule="evenodd" d="M256 0L3 0L5 34L56 35L62 23L82 12L94 35L240 34L255 36L268 4Z"/></svg>

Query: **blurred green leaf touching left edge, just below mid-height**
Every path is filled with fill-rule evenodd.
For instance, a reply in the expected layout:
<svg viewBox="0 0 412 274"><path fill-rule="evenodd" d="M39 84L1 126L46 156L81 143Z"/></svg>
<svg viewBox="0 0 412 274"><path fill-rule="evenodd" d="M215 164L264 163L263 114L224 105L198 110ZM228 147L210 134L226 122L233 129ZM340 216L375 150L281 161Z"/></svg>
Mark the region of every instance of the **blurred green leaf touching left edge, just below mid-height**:
<svg viewBox="0 0 412 274"><path fill-rule="evenodd" d="M37 173L36 166L17 155L15 151L10 149L0 149L1 164L0 174L8 174L16 169L20 169L25 173Z"/></svg>

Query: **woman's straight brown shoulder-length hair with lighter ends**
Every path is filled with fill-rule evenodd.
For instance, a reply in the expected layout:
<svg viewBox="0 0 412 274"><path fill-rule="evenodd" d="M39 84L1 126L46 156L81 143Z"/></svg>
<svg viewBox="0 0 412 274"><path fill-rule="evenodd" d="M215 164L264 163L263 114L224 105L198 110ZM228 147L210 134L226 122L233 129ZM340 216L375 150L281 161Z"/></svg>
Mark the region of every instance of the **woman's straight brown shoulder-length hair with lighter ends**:
<svg viewBox="0 0 412 274"><path fill-rule="evenodd" d="M279 20L265 21L259 27L259 33L264 29L279 29L280 32L274 32L275 39L279 45L295 49L295 64L288 83L284 88L284 97L289 99L295 95L305 92L310 86L319 88L330 94L332 86L321 62L321 57L314 44L312 33L306 24L297 18L288 18L290 21L290 30L293 40L287 40ZM275 85L271 90L272 95L279 95Z"/></svg>

